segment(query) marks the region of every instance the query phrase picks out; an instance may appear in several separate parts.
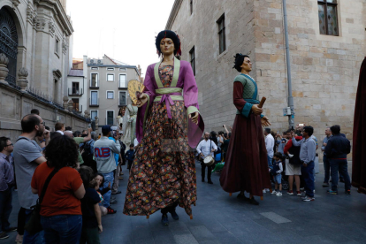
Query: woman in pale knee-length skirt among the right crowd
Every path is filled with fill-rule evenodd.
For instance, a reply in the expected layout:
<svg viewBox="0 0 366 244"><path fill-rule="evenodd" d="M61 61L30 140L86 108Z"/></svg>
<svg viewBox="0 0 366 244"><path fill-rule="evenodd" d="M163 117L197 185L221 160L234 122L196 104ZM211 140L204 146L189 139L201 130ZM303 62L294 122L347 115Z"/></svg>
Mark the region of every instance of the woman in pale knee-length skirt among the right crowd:
<svg viewBox="0 0 366 244"><path fill-rule="evenodd" d="M294 188L294 181L296 186L296 193L298 196L301 196L300 192L300 176L301 176L301 160L300 160L300 147L293 147L293 141L292 138L292 131L288 130L286 131L286 138L287 143L284 149L285 155L290 155L291 157L288 157L286 159L286 175L288 176L288 186L289 189L287 191L287 194L294 194L293 188ZM301 141L302 136L296 136L296 141Z"/></svg>

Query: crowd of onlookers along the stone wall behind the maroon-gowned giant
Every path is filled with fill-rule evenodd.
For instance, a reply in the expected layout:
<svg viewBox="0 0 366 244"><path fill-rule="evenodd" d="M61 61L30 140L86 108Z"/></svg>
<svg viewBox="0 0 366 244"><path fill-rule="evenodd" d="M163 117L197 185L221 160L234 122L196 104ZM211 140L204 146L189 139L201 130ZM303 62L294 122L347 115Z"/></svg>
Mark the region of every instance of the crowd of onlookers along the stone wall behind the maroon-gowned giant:
<svg viewBox="0 0 366 244"><path fill-rule="evenodd" d="M225 126L226 129L226 126ZM288 183L287 194L301 196L302 201L315 201L315 176L318 164L318 140L313 135L312 126L298 125L294 130L274 133L271 128L264 129L265 146L267 149L268 169L274 190L263 189L263 193L271 192L282 195L282 183ZM202 182L205 181L206 164L203 159L207 156L215 158L215 164L225 162L225 153L230 141L231 133L212 131L204 133L202 141L196 148L197 159L202 164ZM345 183L345 193L351 194L351 182L347 171L347 154L351 151L350 141L344 133L340 133L340 126L325 128L325 138L321 145L324 162L323 187L330 187L329 194L338 194L338 183ZM215 164L208 166L208 183ZM225 163L224 163L225 164ZM330 180L331 179L331 180ZM295 187L295 191L294 191ZM304 191L304 194L301 194Z"/></svg>

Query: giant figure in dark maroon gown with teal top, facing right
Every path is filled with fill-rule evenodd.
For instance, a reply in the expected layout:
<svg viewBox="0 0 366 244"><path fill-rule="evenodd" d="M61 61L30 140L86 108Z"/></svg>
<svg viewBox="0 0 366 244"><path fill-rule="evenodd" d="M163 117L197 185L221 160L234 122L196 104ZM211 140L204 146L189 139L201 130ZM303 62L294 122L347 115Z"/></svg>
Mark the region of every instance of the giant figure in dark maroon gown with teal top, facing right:
<svg viewBox="0 0 366 244"><path fill-rule="evenodd" d="M236 54L234 68L241 72L233 85L233 103L238 111L220 184L226 192L240 191L238 198L258 205L254 195L263 196L263 189L271 187L262 130L262 126L271 124L258 107L258 88L249 76L252 70L249 57ZM244 195L245 191L250 194L249 198Z"/></svg>

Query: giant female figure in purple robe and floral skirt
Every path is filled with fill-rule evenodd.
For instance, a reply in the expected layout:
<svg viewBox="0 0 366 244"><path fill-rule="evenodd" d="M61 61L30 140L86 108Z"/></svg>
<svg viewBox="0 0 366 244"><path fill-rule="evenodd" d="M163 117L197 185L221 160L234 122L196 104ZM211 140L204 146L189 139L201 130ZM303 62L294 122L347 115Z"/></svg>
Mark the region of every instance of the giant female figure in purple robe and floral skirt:
<svg viewBox="0 0 366 244"><path fill-rule="evenodd" d="M198 90L191 65L179 61L177 34L165 30L156 37L162 62L149 65L145 89L137 105L136 135L140 142L130 171L124 213L149 215L161 210L178 219L177 205L192 217L196 201L194 148L204 124L198 111Z"/></svg>

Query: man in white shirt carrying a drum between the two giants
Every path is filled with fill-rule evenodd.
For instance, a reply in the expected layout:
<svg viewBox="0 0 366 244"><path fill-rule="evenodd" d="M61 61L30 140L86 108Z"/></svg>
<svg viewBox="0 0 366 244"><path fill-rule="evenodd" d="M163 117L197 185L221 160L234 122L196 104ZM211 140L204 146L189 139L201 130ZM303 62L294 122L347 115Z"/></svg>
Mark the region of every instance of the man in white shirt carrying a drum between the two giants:
<svg viewBox="0 0 366 244"><path fill-rule="evenodd" d="M206 173L205 173L206 164L203 163L203 159L206 156L212 156L212 158L215 159L214 152L216 152L216 151L217 151L217 145L215 144L215 142L210 140L210 133L208 133L208 132L204 133L204 140L202 140L197 146L197 152L201 156L200 161L201 161L201 166L202 166L202 182L204 182L204 177L206 175ZM213 184L213 182L211 180L212 165L207 166L207 167L208 167L207 183Z"/></svg>

